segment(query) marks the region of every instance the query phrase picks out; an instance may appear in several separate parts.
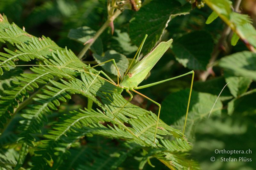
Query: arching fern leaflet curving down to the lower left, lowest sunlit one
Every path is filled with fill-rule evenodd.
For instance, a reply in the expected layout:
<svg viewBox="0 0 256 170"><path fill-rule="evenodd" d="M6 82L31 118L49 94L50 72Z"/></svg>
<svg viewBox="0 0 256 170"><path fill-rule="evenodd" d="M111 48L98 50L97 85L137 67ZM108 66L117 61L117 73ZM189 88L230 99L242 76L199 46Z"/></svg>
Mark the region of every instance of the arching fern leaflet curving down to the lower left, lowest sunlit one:
<svg viewBox="0 0 256 170"><path fill-rule="evenodd" d="M54 158L56 153L58 153L58 159L67 154L70 146L79 138L84 137L84 135L103 134L106 132L105 135L108 137L132 139L131 134L118 130L116 126L112 128L100 124L100 122L117 123L102 112L80 110L80 112L72 112L69 115L65 115L62 119L63 122L55 124L54 130L49 131L49 135L45 135L48 140L42 141L44 143L42 150L36 152L40 156L34 158L33 165L35 168L44 168L44 159L56 159ZM61 163L57 162L57 160L54 160L54 167L58 167Z"/></svg>

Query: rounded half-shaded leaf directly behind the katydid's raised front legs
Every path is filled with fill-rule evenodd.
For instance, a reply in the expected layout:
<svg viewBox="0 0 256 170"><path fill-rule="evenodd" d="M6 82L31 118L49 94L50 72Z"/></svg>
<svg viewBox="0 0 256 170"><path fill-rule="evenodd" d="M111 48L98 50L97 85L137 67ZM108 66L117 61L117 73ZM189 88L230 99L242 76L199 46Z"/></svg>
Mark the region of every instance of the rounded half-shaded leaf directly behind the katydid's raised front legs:
<svg viewBox="0 0 256 170"><path fill-rule="evenodd" d="M95 58L97 63L102 63L105 61L108 61L110 59L115 59L116 65L119 69L119 72L121 75L124 75L124 72L128 68L128 59L125 55L117 53L115 50L108 50L104 56L100 56L97 54L93 54L93 57ZM113 62L108 62L105 64L100 65L103 67L104 70L117 75L117 70Z"/></svg>

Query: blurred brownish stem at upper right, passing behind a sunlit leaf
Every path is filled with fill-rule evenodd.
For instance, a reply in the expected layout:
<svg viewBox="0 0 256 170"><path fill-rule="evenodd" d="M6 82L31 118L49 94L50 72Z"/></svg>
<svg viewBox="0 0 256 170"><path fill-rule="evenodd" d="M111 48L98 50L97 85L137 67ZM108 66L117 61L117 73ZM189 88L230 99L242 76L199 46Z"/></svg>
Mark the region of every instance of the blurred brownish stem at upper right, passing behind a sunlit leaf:
<svg viewBox="0 0 256 170"><path fill-rule="evenodd" d="M239 6L241 4L241 1L242 0L237 0L236 1L235 7L234 7L235 11L239 10ZM208 63L206 71L202 72L200 74L200 76L199 76L202 81L205 81L208 78L208 76L212 73L212 67L213 67L217 57L219 56L219 54L221 52L221 48L220 47L222 46L223 42L227 39L227 37L230 34L230 32L231 32L231 28L230 28L230 26L227 25L225 27L225 29L223 30L217 45L213 49L212 56L211 56L211 59L210 59L210 61Z"/></svg>

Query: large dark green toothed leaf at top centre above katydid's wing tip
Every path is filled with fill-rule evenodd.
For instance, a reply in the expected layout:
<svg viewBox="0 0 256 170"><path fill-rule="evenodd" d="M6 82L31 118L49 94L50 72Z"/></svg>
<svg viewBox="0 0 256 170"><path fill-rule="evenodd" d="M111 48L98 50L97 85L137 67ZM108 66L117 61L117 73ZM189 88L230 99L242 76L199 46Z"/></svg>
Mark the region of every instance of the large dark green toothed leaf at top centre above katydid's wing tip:
<svg viewBox="0 0 256 170"><path fill-rule="evenodd" d="M160 40L168 22L174 16L188 14L190 10L191 5L189 3L181 6L176 0L151 1L141 7L140 11L136 12L131 20L129 35L132 42L139 47L145 34L148 34L142 49L144 54L148 54Z"/></svg>

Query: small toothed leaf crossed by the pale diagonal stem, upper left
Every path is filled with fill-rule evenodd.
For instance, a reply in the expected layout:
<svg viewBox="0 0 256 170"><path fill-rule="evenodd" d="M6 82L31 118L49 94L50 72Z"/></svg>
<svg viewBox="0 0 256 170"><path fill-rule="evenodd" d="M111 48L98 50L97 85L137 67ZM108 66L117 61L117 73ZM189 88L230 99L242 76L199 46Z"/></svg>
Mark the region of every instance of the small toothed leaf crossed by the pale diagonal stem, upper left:
<svg viewBox="0 0 256 170"><path fill-rule="evenodd" d="M71 29L68 33L68 38L84 44L85 42L90 41L95 33L96 31L92 30L92 28L88 26L82 26L76 29ZM103 53L103 45L100 38L97 38L97 40L92 44L91 50L93 53L98 55Z"/></svg>

